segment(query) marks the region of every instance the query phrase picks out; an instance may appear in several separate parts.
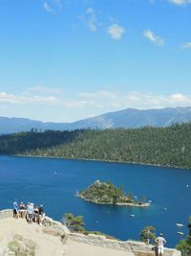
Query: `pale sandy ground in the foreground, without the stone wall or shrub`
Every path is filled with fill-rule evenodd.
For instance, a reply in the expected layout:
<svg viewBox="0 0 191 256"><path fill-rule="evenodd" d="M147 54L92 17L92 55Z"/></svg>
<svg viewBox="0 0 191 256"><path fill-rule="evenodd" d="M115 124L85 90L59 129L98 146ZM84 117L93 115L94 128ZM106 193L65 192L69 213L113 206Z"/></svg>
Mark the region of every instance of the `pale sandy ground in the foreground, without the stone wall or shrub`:
<svg viewBox="0 0 191 256"><path fill-rule="evenodd" d="M58 237L44 234L42 226L28 224L25 220L11 218L0 220L0 256L14 235L30 239L36 244L36 256L133 256L134 254L90 244L73 242L70 239L62 244Z"/></svg>

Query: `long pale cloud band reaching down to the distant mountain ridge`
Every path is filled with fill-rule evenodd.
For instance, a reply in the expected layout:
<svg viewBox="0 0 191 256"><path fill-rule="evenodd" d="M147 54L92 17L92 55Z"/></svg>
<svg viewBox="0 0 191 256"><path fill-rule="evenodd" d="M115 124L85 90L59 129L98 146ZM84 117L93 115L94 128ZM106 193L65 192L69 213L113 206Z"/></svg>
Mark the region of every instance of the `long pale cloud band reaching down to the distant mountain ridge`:
<svg viewBox="0 0 191 256"><path fill-rule="evenodd" d="M128 107L149 109L190 105L191 95L179 92L170 95L157 95L136 91L117 92L101 90L81 92L73 97L0 92L0 110L2 115L12 116L12 113L17 111L17 116L54 122L58 120L63 121L63 115L65 118L67 116L68 121L74 121ZM66 121L66 119L64 120Z"/></svg>

